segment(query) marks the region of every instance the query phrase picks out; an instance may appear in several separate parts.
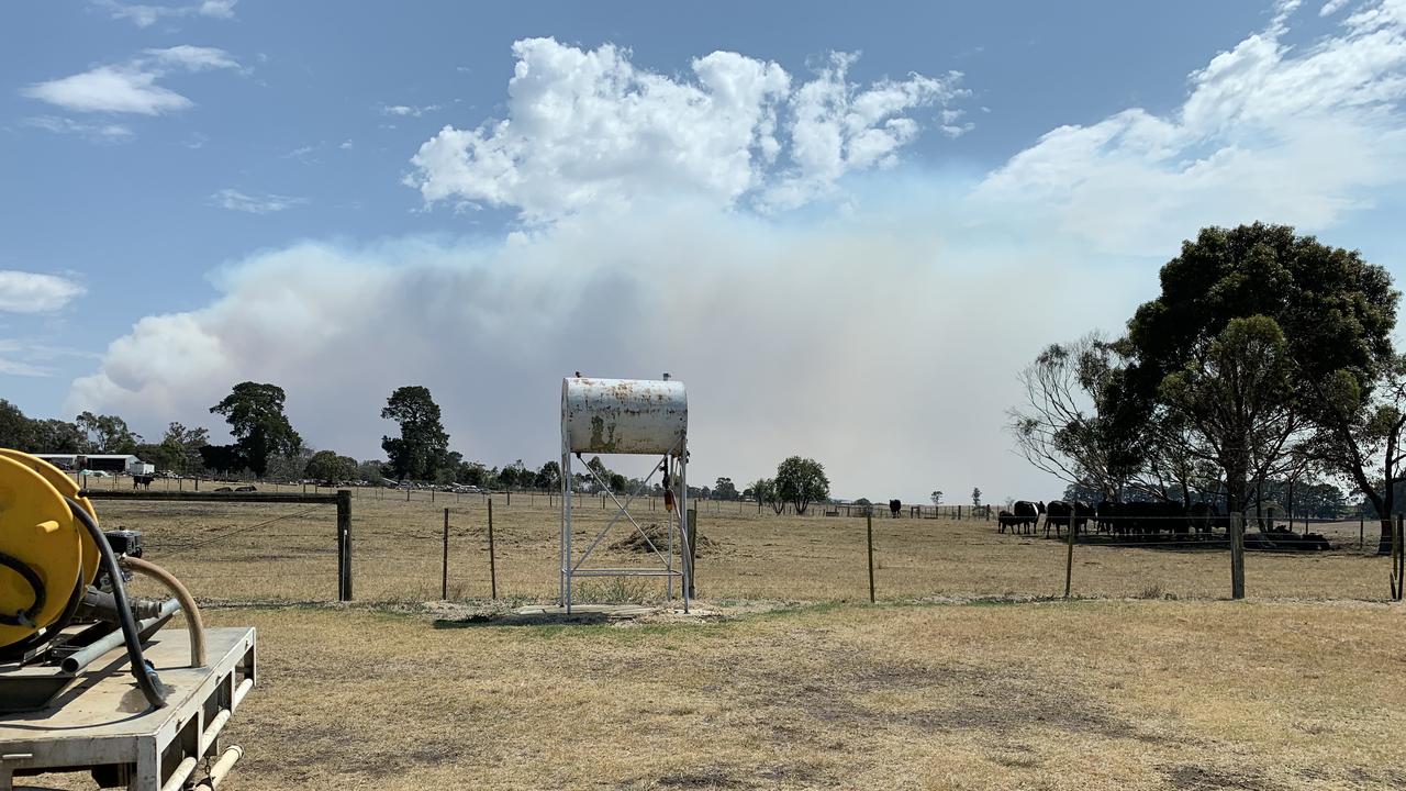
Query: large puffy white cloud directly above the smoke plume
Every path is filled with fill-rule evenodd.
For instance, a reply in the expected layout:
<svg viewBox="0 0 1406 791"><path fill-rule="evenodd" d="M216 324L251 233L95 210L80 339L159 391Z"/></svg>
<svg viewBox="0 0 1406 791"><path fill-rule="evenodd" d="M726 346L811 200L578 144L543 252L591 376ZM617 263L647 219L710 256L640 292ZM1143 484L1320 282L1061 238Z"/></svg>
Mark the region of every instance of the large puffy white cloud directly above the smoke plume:
<svg viewBox="0 0 1406 791"><path fill-rule="evenodd" d="M447 125L411 160L426 201L516 207L529 221L678 194L794 207L893 165L918 134L905 113L962 93L956 73L862 89L846 80L849 55L799 84L735 52L696 58L692 80L638 69L609 44L531 38L513 55L506 117Z"/></svg>

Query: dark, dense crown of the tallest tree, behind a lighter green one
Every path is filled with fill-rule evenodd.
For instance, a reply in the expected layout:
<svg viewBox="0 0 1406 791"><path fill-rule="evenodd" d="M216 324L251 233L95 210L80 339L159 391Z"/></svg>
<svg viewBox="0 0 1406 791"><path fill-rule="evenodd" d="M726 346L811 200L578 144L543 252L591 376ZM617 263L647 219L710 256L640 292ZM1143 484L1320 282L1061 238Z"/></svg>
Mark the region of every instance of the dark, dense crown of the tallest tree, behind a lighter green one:
<svg viewBox="0 0 1406 791"><path fill-rule="evenodd" d="M1398 300L1386 270L1355 251L1323 245L1286 225L1205 228L1163 266L1161 293L1137 308L1126 338L1118 342L1128 365L1101 404L1109 431L1123 441L1147 436L1159 407L1166 405L1167 377L1204 365L1232 321L1263 317L1282 335L1282 343L1271 346L1282 349L1284 365L1292 369L1292 381L1284 387L1292 393L1298 426L1331 428L1346 438L1360 411L1343 408L1344 388L1330 393L1322 384L1350 383L1346 390L1360 403L1371 398L1393 357ZM1241 328L1241 339L1249 331ZM1267 322L1257 322L1253 334L1263 339L1267 331ZM1185 417L1187 411L1174 414ZM1237 467L1246 463L1241 456L1234 452L1225 460ZM1251 473L1256 466L1270 472L1274 460L1247 463ZM1230 480L1240 470L1220 464L1220 473L1232 490L1230 508L1243 508L1244 487Z"/></svg>

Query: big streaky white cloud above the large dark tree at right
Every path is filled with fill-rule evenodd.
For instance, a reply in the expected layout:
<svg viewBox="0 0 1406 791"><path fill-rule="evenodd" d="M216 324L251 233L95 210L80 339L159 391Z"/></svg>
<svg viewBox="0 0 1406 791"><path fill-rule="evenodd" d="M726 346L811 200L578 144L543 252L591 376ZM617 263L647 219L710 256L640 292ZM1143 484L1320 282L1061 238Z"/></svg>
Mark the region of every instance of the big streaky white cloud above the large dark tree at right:
<svg viewBox="0 0 1406 791"><path fill-rule="evenodd" d="M1284 42L1296 6L1194 72L1177 111L1053 129L980 197L1123 252L1206 224L1324 228L1369 204L1406 165L1406 4L1362 8L1301 49Z"/></svg>

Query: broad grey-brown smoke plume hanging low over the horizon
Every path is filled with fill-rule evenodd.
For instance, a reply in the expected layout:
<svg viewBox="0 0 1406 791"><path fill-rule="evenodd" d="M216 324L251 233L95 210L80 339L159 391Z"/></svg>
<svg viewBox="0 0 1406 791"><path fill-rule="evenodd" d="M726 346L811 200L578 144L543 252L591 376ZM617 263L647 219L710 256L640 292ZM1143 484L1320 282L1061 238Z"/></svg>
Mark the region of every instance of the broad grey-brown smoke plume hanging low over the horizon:
<svg viewBox="0 0 1406 791"><path fill-rule="evenodd" d="M309 443L380 457L380 407L419 383L465 456L540 464L562 376L668 370L689 387L695 481L804 453L841 495L1043 495L1056 484L1002 431L1014 373L1121 321L1149 272L1111 272L1091 304L1059 253L963 251L935 208L817 229L679 205L502 243L305 242L225 269L204 310L142 319L69 408L157 434L211 425L235 381L274 381Z"/></svg>

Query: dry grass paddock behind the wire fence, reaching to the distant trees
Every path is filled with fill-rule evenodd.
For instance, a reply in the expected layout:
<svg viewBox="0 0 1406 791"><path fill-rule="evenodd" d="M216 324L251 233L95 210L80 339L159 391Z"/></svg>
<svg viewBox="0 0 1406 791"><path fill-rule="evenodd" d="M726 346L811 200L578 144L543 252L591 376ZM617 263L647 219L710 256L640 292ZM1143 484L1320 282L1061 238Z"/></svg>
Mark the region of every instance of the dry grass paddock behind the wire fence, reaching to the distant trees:
<svg viewBox="0 0 1406 791"><path fill-rule="evenodd" d="M301 491L301 487L297 487ZM101 490L93 490L101 491ZM270 494L297 494L294 487ZM328 488L308 494L330 494ZM658 498L655 498L658 500ZM494 536L489 536L489 501ZM851 507L806 515L761 512L751 502L690 501L697 508L696 588L704 600L828 601L869 597L870 540L879 600L932 597L1225 598L1230 542L1220 525L1187 518L1136 524L1088 519L1073 543L1064 524L1001 531L956 507L897 517L887 504L866 519ZM326 504L98 500L104 528L139 529L148 557L197 597L222 602L337 601L336 508ZM662 500L631 511L664 522ZM928 507L932 508L932 507ZM831 518L827 517L830 511ZM910 515L914 514L914 515ZM920 515L921 514L921 515ZM589 539L613 502L574 497L572 525ZM1386 600L1391 557L1376 555L1368 519L1254 521L1246 525L1246 590L1256 598ZM599 552L612 566L645 566L621 522ZM1303 538L1305 533L1310 538ZM359 601L486 600L546 602L557 595L560 500L553 494L352 491L350 569ZM492 542L492 548L491 548ZM661 601L662 583L602 581L600 601Z"/></svg>

